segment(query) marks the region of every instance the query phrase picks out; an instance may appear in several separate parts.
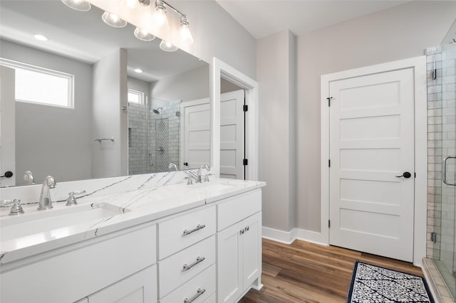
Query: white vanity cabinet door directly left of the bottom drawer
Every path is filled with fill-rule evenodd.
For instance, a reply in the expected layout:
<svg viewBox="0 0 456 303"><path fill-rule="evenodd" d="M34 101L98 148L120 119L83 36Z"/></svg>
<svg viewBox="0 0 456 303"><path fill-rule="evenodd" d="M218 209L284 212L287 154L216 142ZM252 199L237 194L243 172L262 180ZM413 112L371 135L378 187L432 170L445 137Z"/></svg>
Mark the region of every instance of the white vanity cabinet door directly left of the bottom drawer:
<svg viewBox="0 0 456 303"><path fill-rule="evenodd" d="M147 267L130 277L115 282L88 296L89 303L150 303L157 302L157 268Z"/></svg>

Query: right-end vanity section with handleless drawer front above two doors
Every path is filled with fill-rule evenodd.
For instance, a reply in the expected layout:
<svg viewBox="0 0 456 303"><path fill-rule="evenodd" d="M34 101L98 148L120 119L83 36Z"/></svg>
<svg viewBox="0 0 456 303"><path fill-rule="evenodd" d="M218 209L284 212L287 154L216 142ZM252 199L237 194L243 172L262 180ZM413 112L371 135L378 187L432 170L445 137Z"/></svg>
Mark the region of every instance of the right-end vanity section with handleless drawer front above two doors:
<svg viewBox="0 0 456 303"><path fill-rule="evenodd" d="M255 280L261 284L261 191L220 203L217 217L217 302L237 302Z"/></svg>

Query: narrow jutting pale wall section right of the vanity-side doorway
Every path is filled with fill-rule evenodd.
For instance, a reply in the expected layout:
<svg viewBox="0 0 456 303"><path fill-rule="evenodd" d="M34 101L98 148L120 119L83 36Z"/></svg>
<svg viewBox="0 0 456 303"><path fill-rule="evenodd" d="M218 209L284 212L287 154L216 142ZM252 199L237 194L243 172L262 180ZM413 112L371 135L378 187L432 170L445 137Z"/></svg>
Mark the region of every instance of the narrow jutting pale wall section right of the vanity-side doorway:
<svg viewBox="0 0 456 303"><path fill-rule="evenodd" d="M291 230L296 218L294 66L295 38L282 31L257 41L259 83L259 179L263 225Z"/></svg>

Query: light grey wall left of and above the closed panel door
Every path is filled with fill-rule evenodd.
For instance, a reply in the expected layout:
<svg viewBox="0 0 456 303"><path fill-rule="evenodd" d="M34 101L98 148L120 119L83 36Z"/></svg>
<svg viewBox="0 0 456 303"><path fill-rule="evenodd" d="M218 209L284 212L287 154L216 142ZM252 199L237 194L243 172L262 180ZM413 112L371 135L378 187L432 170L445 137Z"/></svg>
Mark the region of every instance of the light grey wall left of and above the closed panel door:
<svg viewBox="0 0 456 303"><path fill-rule="evenodd" d="M455 16L456 1L411 1L298 37L298 228L320 230L320 75L424 55Z"/></svg>

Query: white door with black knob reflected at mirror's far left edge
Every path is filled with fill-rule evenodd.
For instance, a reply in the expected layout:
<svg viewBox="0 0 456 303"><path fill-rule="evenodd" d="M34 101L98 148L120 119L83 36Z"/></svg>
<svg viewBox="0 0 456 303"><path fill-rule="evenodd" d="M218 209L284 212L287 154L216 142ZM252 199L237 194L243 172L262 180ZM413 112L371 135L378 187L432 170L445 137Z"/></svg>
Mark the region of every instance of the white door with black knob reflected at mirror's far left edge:
<svg viewBox="0 0 456 303"><path fill-rule="evenodd" d="M0 176L12 171L11 178L0 178L0 187L16 185L16 104L15 70L0 66Z"/></svg>

